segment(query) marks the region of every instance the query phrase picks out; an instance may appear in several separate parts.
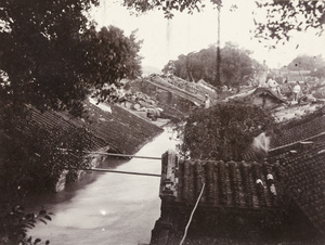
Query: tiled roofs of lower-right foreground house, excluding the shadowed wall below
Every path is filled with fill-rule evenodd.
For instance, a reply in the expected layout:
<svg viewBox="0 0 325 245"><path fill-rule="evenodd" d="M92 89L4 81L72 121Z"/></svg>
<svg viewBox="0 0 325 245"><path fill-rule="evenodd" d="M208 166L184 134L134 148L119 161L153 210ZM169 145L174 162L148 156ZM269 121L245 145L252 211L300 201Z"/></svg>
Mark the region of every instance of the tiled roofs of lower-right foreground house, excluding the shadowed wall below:
<svg viewBox="0 0 325 245"><path fill-rule="evenodd" d="M264 156L265 159L250 153L245 155L247 162L239 163L178 160L170 152L164 155L160 181L161 223L166 221L168 211L172 211L173 205L180 207L177 211L192 207L205 183L198 212L202 211L199 208L205 207L209 207L207 214L211 216L211 210L218 208L227 208L227 215L234 210L235 215L238 211L243 215L247 210L245 214L248 214L248 219L253 220L257 212L263 217L263 210L274 211L273 214L286 208L291 210L292 206L286 201L292 199L301 214L314 224L315 230L325 234L324 114L324 108L321 108L302 119L280 125L278 134L273 138L272 150ZM263 160L251 162L252 159ZM166 163L176 164L172 166ZM269 173L272 175L272 181L268 181ZM274 184L273 189L271 184ZM251 216L250 210L255 215ZM220 217L220 212L216 214ZM308 220L304 221L309 223Z"/></svg>

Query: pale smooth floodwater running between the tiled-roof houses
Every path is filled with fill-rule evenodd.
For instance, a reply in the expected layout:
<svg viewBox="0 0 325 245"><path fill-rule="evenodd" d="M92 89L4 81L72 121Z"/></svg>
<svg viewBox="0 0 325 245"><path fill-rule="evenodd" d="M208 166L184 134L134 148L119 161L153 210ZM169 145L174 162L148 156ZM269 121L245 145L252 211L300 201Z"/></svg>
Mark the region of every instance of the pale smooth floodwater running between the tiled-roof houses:
<svg viewBox="0 0 325 245"><path fill-rule="evenodd" d="M140 150L139 156L160 157L178 143L165 130ZM160 175L155 159L108 159L101 168ZM52 221L38 222L29 232L34 238L64 245L136 245L150 243L151 231L160 216L158 177L122 173L86 173L61 193L34 197L31 208L41 205L52 211Z"/></svg>

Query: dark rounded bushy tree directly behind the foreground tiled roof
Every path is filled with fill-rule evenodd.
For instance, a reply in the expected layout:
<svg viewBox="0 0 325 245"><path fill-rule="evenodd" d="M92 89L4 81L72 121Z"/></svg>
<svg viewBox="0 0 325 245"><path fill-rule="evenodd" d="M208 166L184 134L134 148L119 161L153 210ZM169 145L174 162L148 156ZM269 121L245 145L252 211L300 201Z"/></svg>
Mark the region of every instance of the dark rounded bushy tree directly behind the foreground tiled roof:
<svg viewBox="0 0 325 245"><path fill-rule="evenodd" d="M217 104L190 116L180 150L195 159L243 160L252 139L273 122L269 112L252 104Z"/></svg>

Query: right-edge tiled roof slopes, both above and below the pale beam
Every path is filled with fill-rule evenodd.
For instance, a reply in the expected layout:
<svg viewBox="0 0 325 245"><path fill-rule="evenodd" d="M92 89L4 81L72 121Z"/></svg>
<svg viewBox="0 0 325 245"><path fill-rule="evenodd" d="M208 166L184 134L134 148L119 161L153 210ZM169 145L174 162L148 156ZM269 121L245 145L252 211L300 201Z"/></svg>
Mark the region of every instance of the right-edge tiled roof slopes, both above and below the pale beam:
<svg viewBox="0 0 325 245"><path fill-rule="evenodd" d="M268 162L286 169L288 195L325 234L325 109L280 125Z"/></svg>

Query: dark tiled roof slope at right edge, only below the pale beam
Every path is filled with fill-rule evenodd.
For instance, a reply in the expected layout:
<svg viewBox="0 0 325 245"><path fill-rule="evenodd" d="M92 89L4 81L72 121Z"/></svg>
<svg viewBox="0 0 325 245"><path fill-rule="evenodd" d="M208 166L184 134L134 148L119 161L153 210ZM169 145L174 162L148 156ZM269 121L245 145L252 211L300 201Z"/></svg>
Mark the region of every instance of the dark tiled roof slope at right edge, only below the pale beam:
<svg viewBox="0 0 325 245"><path fill-rule="evenodd" d="M325 234L325 132L271 151L269 159L286 168L287 193Z"/></svg>

